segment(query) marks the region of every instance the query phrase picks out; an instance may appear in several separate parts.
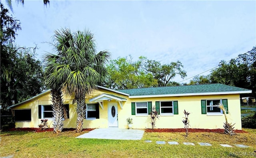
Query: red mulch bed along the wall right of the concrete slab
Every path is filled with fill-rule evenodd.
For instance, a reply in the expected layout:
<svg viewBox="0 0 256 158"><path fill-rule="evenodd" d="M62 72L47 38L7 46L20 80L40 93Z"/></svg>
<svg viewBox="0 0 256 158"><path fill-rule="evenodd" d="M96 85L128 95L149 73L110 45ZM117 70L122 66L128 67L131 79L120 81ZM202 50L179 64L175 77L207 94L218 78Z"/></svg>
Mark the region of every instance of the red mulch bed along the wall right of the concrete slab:
<svg viewBox="0 0 256 158"><path fill-rule="evenodd" d="M185 128L157 128L157 129L146 129L146 132L185 132ZM215 132L224 133L224 129L199 129L189 128L188 132ZM248 133L244 130L235 130L235 133Z"/></svg>

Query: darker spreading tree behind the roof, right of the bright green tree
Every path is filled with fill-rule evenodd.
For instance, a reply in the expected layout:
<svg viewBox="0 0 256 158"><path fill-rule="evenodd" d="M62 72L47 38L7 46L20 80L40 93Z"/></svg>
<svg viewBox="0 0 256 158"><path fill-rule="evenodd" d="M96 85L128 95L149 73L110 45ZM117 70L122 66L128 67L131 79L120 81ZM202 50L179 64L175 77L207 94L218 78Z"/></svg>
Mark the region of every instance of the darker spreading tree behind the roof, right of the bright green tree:
<svg viewBox="0 0 256 158"><path fill-rule="evenodd" d="M183 65L180 61L161 65L159 61L148 60L146 64L146 71L151 73L154 79L157 79L158 86L160 87L170 85L171 79L176 75L180 75L180 77L184 79L187 75L186 71L182 68Z"/></svg>

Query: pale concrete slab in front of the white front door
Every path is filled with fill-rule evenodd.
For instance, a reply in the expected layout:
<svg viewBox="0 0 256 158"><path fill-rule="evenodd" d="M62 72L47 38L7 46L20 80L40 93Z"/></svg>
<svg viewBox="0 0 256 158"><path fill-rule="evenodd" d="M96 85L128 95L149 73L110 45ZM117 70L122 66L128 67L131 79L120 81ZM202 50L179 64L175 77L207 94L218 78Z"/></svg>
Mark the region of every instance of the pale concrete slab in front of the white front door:
<svg viewBox="0 0 256 158"><path fill-rule="evenodd" d="M141 140L144 130L121 128L97 128L76 138Z"/></svg>

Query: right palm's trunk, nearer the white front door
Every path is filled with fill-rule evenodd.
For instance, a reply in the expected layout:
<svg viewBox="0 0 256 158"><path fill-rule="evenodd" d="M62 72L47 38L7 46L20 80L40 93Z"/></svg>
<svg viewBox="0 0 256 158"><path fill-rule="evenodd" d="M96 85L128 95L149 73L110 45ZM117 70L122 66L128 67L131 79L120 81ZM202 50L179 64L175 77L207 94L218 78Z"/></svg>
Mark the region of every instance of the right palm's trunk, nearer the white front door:
<svg viewBox="0 0 256 158"><path fill-rule="evenodd" d="M85 96L77 97L76 103L76 113L77 113L77 121L76 121L76 132L81 132L83 130L84 124L84 116L85 116Z"/></svg>

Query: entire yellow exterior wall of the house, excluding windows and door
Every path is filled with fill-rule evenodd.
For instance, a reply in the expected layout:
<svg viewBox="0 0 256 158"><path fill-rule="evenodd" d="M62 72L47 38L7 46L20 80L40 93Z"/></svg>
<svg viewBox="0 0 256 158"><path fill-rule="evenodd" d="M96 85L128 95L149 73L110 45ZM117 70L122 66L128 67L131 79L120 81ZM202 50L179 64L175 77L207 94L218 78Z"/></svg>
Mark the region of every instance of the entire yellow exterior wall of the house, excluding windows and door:
<svg viewBox="0 0 256 158"><path fill-rule="evenodd" d="M86 103L89 103L89 99L97 97L102 93L113 94L123 97L127 101L123 101L123 109L121 109L118 102L118 127L128 128L126 119L128 117L133 119L133 128L151 128L150 115L136 116L131 115L131 103L132 102L147 102L152 101L152 107L155 106L156 101L178 101L178 115L173 116L161 116L156 120L156 128L184 128L182 123L184 117L184 109L191 114L188 116L190 120L190 128L223 128L223 122L225 121L224 114L221 116L208 116L207 114L201 114L201 100L202 99L228 99L228 111L231 115L228 115L228 121L235 124L235 129L240 130L241 125L241 113L240 113L240 95L200 95L200 96L182 96L182 97L152 97L152 98L136 98L129 99L128 96L120 95L112 91L99 89L92 95L86 97ZM74 96L64 95L64 104L69 104L69 119L64 122L64 128L76 128L76 109L75 105L72 105ZM108 101L104 101L103 109L99 107L100 119L87 120L84 119L83 128L108 128ZM50 105L50 93L39 97L28 103L18 105L13 109L31 109L32 120L31 122L16 122L16 128L18 127L34 127L37 128L41 119L38 119L38 105ZM51 120L48 119L52 127Z"/></svg>

